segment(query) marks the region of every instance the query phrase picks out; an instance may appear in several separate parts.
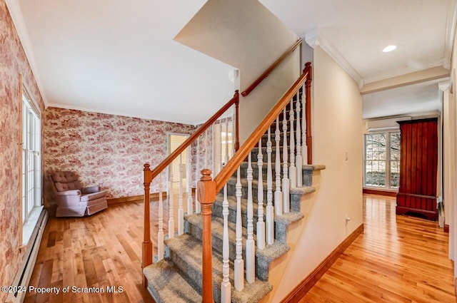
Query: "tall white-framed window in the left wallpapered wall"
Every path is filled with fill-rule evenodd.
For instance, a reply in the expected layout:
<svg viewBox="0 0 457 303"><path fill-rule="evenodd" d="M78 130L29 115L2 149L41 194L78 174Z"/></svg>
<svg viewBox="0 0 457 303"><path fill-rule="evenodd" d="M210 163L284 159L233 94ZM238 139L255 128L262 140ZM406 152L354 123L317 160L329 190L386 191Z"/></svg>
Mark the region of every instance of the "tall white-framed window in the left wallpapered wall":
<svg viewBox="0 0 457 303"><path fill-rule="evenodd" d="M39 111L22 96L22 224L41 206L41 123Z"/></svg>

